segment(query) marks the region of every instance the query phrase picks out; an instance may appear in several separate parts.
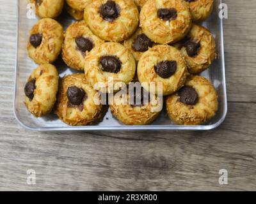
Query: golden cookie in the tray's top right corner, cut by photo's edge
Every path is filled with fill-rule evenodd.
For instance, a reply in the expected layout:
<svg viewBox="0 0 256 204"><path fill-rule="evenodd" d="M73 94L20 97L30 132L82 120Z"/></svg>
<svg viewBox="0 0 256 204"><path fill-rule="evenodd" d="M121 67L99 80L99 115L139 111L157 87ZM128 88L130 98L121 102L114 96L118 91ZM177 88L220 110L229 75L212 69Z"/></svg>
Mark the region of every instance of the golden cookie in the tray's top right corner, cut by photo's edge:
<svg viewBox="0 0 256 204"><path fill-rule="evenodd" d="M214 0L185 0L194 21L202 21L212 12Z"/></svg>

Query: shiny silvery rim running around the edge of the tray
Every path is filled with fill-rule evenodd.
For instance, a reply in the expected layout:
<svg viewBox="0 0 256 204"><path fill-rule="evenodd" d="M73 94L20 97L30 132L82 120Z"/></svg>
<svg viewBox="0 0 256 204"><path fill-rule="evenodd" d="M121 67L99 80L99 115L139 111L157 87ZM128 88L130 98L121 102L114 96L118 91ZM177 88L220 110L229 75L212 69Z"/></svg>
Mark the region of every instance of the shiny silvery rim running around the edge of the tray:
<svg viewBox="0 0 256 204"><path fill-rule="evenodd" d="M222 3L222 0L219 0L220 4ZM221 115L221 119L218 120L218 122L211 124L211 125L201 125L201 126L180 126L180 125L147 125L147 126L63 126L63 127L45 127L45 128L31 128L27 125L25 125L18 117L16 112L16 94L17 94L17 72L18 72L18 50L19 50L19 3L20 0L17 1L16 6L16 50L15 50L15 82L14 82L14 91L13 91L13 115L15 119L19 122L20 126L22 126L25 129L28 129L30 131L102 131L102 130L141 130L141 131L147 131L147 130L175 130L175 131L181 131L181 130L211 130L218 128L223 121L227 117L227 85L226 85L226 75L225 75L225 54L224 54L224 37L223 37L223 18L220 18L220 46L221 46L221 73L223 75L223 113Z"/></svg>

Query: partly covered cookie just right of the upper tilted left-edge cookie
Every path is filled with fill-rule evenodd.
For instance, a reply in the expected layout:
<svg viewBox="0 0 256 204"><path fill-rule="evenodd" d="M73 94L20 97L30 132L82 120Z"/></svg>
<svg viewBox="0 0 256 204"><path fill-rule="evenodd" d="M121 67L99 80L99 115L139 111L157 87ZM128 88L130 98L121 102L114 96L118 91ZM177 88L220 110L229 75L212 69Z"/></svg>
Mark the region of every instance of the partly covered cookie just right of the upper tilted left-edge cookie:
<svg viewBox="0 0 256 204"><path fill-rule="evenodd" d="M65 33L65 40L62 46L63 61L73 69L84 70L84 57L95 46L104 43L95 36L84 20L71 24Z"/></svg>

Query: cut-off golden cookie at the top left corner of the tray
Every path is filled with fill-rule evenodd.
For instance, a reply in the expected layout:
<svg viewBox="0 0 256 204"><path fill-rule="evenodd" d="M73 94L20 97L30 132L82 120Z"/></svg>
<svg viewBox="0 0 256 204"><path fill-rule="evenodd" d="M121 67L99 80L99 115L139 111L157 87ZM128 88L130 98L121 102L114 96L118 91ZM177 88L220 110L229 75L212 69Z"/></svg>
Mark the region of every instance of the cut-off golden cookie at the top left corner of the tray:
<svg viewBox="0 0 256 204"><path fill-rule="evenodd" d="M61 14L64 0L29 0L35 4L36 15L40 18L56 18Z"/></svg>

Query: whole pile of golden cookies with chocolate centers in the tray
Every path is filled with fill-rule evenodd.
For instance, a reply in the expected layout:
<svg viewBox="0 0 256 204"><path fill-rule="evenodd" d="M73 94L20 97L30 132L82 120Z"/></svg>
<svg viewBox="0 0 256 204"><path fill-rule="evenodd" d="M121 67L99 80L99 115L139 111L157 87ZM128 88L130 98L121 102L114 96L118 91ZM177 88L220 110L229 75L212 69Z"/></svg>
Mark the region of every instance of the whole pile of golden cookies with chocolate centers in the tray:
<svg viewBox="0 0 256 204"><path fill-rule="evenodd" d="M213 1L29 0L41 19L29 32L28 55L39 66L24 88L26 107L35 117L54 110L70 126L97 124L110 107L123 124L145 125L165 100L175 123L205 124L218 110L218 95L198 74L216 58L216 43L198 22L209 17ZM66 31L54 20L64 7L77 20ZM59 78L52 63L60 54L76 74ZM131 82L141 85L140 96L115 97L120 83ZM95 103L99 92L113 92L114 102ZM155 97L144 103L148 94ZM131 98L141 103L120 103Z"/></svg>

